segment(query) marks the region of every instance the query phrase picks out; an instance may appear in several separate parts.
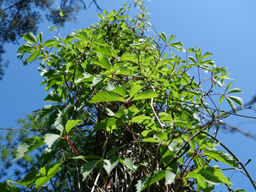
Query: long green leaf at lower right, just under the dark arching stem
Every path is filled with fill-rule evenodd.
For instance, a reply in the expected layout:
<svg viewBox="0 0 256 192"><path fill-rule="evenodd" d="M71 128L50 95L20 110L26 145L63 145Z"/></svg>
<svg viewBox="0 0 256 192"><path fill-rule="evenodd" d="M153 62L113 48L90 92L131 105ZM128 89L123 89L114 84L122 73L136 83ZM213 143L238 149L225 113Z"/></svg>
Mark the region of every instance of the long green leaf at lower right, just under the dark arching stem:
<svg viewBox="0 0 256 192"><path fill-rule="evenodd" d="M215 158L220 162L225 162L229 166L238 168L238 162L236 162L236 160L230 154L227 154L224 151L204 149L203 154L208 155L210 158Z"/></svg>

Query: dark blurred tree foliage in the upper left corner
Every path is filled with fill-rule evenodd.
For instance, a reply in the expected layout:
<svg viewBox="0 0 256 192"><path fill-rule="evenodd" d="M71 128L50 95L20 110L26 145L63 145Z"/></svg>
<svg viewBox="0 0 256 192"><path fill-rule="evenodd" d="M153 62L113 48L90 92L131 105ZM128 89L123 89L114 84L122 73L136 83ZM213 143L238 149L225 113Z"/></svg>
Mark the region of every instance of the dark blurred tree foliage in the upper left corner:
<svg viewBox="0 0 256 192"><path fill-rule="evenodd" d="M58 6L59 3L59 6ZM86 6L86 3L89 5ZM2 0L0 2L0 79L4 74L4 67L8 62L3 62L2 54L5 53L5 43L18 43L23 34L30 31L38 32L38 25L46 18L58 26L65 22L74 22L79 10L86 9L92 3L101 10L96 0ZM57 8L56 8L57 7ZM62 10L62 16L59 11ZM45 18L42 17L45 13Z"/></svg>

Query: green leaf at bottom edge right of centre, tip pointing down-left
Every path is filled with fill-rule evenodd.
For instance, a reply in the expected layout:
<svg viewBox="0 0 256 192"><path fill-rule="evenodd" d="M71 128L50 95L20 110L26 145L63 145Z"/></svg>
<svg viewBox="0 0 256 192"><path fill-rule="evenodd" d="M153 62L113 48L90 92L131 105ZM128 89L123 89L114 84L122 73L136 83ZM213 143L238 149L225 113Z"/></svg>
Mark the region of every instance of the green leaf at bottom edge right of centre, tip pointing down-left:
<svg viewBox="0 0 256 192"><path fill-rule="evenodd" d="M144 189L146 189L147 186L150 186L154 184L155 182L158 182L162 178L165 178L166 176L166 171L164 170L155 170L154 174L150 178L151 174L147 174L145 178L142 178L141 180L138 181L136 184L137 192L140 192Z"/></svg>

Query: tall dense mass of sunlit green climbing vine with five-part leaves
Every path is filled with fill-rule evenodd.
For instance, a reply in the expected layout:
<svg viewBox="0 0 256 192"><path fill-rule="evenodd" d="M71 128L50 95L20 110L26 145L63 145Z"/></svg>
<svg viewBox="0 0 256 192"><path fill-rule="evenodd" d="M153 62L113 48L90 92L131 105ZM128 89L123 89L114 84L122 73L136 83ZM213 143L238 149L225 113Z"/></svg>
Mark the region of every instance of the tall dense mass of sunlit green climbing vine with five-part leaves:
<svg viewBox="0 0 256 192"><path fill-rule="evenodd" d="M215 93L226 69L208 52L182 48L174 35L146 36L146 8L135 5L135 18L124 5L66 38L24 35L18 57L25 65L42 60L45 101L53 104L39 111L46 124L34 126L40 134L23 139L14 158L39 148L38 162L18 182L1 183L6 191L19 191L12 183L31 191L212 191L219 184L234 191L218 162L244 169L254 185L216 138L234 103L242 106L232 95L241 90L230 83ZM233 113L211 95L219 104L225 98Z"/></svg>

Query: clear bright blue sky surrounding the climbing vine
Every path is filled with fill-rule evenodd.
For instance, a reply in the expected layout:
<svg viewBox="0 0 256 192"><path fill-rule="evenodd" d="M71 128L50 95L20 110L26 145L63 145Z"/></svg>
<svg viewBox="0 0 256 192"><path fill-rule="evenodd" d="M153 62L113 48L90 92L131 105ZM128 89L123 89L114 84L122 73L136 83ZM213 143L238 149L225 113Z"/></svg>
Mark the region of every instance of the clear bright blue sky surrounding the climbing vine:
<svg viewBox="0 0 256 192"><path fill-rule="evenodd" d="M98 0L98 4L103 9L111 10L122 6L122 0ZM204 52L214 54L212 59L217 66L229 68L234 87L243 91L239 96L244 102L249 102L256 95L255 0L151 0L151 3L146 5L155 30L164 31L167 35L177 35L175 39L183 42L186 47L197 46ZM98 22L97 14L99 12L95 6L82 10L78 14L77 23L68 23L61 29L62 36ZM48 33L47 26L50 26L50 23L45 22L40 26L40 31L44 32L44 40L55 35ZM22 66L22 62L16 58L18 46L10 44L5 48L4 58L10 61L10 66L0 81L0 127L15 127L18 118L24 118L25 114L30 114L47 104L42 102L46 92L44 87L40 86L42 78L38 73L38 62ZM224 106L224 109L229 108ZM242 114L255 116L253 112ZM227 119L227 122L256 134L255 119L233 117ZM2 131L0 134L4 133ZM252 158L252 162L246 167L256 179L256 141L241 134L226 134L225 131L221 131L218 138L230 147L243 163ZM236 184L233 189L240 187L254 191L248 178L242 174L234 171L225 173Z"/></svg>

